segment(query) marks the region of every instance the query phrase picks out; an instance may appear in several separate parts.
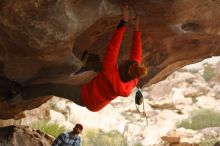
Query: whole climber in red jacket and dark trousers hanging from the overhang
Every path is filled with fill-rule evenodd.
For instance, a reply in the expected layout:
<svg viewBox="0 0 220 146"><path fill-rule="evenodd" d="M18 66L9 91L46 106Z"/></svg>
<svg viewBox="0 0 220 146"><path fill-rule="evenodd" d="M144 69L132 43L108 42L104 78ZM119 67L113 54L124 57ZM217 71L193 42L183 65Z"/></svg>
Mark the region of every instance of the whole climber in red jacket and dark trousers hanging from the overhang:
<svg viewBox="0 0 220 146"><path fill-rule="evenodd" d="M147 68L141 65L142 42L139 17L134 22L133 44L130 58L117 66L120 45L129 20L128 6L123 7L123 19L114 31L105 53L102 67L97 76L82 86L66 84L39 84L20 88L22 98L55 95L70 99L90 111L99 111L117 96L129 96L139 78L147 74Z"/></svg>

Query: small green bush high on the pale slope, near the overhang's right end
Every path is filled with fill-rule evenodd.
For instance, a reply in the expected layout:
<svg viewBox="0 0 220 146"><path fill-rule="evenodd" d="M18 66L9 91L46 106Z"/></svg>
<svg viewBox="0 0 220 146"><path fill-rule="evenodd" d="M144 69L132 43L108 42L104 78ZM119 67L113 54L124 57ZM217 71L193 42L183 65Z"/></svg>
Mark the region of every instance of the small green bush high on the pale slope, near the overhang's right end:
<svg viewBox="0 0 220 146"><path fill-rule="evenodd" d="M208 63L203 64L203 67L204 67L204 71L203 71L202 77L203 77L206 81L209 81L210 79L212 79L212 77L214 77L214 75L215 75L215 70L214 70L214 68L213 68L210 64L208 64Z"/></svg>

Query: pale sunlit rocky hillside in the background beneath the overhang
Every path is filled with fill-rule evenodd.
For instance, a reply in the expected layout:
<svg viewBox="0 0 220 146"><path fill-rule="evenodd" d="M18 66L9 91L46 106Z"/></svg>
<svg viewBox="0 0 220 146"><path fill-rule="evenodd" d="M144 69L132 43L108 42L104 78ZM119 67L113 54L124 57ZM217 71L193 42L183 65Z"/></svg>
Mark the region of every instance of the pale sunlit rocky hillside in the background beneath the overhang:
<svg viewBox="0 0 220 146"><path fill-rule="evenodd" d="M220 57L218 58L218 61L220 61ZM143 95L148 125L146 125L145 117L136 111L133 93L128 98L117 98L99 112L90 112L69 100L54 97L42 104L40 108L24 112L25 118L0 120L0 127L11 124L31 126L37 120L50 119L50 122L57 122L59 125L66 127L67 131L71 130L75 123L82 123L85 128L83 134L90 128L100 128L104 131L118 130L125 135L131 146L138 143L143 146L165 146L161 139L163 136L170 140L173 136L174 138L180 137L179 143L172 144L172 146L192 146L193 144L195 146L199 142L202 142L205 146L208 144L213 146L215 141L203 141L213 138L219 141L220 127L197 131L176 128L177 123L192 116L192 111L207 108L220 111L218 93L211 88L215 84L219 84L219 79L216 78L219 75L218 65L213 64L216 70L213 80L205 81L202 77L203 64L213 62L213 59L210 59L209 62L200 62L200 65L194 64L184 67L172 73L164 81L145 88ZM195 66L197 69L194 68ZM200 88L201 86L208 87L208 93L203 92L202 96L195 94L193 97L188 97L188 94L183 92L187 90L194 93L194 89L197 89L196 91L201 93L204 90ZM163 94L158 94L156 89L163 90ZM140 107L140 110L142 111L142 107ZM170 140L168 141L171 142ZM200 143L200 145L202 144Z"/></svg>

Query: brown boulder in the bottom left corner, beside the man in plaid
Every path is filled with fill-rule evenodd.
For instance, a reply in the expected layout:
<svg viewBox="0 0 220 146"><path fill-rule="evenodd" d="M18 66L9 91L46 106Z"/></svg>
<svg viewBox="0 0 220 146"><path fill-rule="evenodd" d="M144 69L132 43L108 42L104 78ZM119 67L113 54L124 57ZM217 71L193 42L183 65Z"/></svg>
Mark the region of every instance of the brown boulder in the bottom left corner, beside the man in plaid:
<svg viewBox="0 0 220 146"><path fill-rule="evenodd" d="M0 145L2 146L49 146L53 138L28 127L0 128Z"/></svg>

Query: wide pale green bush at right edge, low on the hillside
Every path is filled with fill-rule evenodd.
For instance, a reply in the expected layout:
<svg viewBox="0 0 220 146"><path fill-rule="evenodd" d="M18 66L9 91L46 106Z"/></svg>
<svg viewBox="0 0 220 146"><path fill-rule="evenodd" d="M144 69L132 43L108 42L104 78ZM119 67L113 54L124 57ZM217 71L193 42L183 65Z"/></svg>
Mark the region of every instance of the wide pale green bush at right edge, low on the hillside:
<svg viewBox="0 0 220 146"><path fill-rule="evenodd" d="M192 112L192 117L177 124L177 128L200 130L208 127L220 127L220 113L210 109Z"/></svg>

